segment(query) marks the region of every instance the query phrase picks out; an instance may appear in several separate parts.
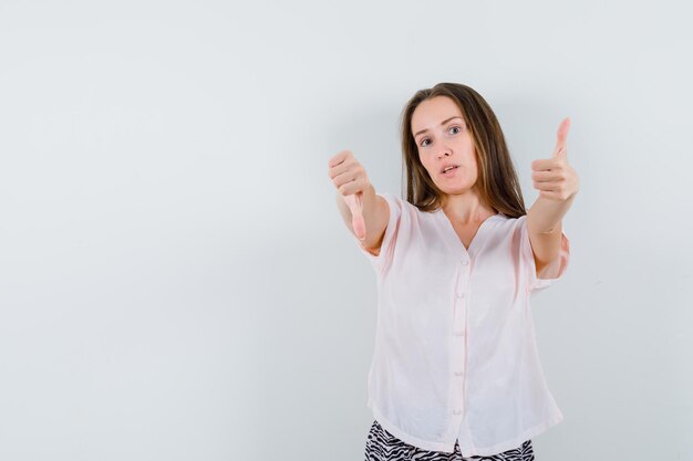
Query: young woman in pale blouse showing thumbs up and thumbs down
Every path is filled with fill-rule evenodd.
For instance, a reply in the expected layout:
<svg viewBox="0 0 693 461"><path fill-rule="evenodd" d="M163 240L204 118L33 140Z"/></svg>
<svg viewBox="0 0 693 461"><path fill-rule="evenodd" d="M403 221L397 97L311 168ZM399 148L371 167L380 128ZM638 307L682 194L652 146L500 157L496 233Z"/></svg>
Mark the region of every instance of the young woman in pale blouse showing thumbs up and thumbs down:
<svg viewBox="0 0 693 461"><path fill-rule="evenodd" d="M404 108L406 200L375 193L351 151L330 159L377 277L366 460L534 460L530 439L562 420L529 301L568 266L569 123L551 158L531 164L529 211L496 116L462 84L421 90Z"/></svg>

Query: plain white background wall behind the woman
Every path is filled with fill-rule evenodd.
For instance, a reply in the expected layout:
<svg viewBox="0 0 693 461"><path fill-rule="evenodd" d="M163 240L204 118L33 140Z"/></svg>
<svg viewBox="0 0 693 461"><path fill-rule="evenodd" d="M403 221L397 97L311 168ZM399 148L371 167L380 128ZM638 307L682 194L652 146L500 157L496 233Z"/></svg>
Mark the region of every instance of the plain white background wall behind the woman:
<svg viewBox="0 0 693 461"><path fill-rule="evenodd" d="M376 286L327 164L399 193L400 113L449 81L528 207L572 118L537 460L693 460L690 9L2 0L0 459L363 459Z"/></svg>

